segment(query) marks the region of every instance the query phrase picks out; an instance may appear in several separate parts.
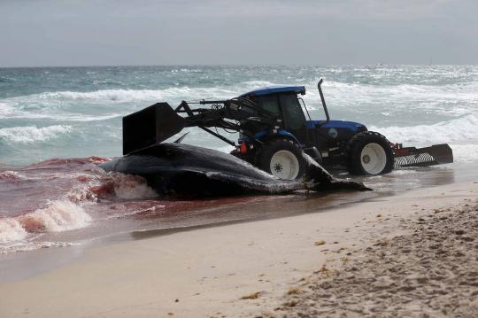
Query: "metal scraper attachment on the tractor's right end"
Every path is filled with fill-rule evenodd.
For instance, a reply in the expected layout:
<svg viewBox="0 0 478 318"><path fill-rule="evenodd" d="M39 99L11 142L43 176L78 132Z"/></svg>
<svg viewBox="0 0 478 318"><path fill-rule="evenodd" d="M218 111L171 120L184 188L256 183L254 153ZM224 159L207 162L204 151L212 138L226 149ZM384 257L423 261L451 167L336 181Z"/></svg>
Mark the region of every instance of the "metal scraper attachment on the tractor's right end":
<svg viewBox="0 0 478 318"><path fill-rule="evenodd" d="M394 167L426 167L453 162L453 151L447 143L434 144L430 147L406 147L393 150Z"/></svg>

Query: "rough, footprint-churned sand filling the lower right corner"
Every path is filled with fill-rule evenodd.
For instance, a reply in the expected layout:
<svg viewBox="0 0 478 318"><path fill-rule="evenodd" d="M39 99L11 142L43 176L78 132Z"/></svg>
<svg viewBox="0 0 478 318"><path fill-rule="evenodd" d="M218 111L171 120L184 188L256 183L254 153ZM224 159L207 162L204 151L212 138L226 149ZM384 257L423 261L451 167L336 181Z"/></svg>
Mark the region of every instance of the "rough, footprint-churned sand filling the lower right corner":
<svg viewBox="0 0 478 318"><path fill-rule="evenodd" d="M275 314L263 315L477 317L478 204L436 209L404 225L410 233L324 265L291 288Z"/></svg>

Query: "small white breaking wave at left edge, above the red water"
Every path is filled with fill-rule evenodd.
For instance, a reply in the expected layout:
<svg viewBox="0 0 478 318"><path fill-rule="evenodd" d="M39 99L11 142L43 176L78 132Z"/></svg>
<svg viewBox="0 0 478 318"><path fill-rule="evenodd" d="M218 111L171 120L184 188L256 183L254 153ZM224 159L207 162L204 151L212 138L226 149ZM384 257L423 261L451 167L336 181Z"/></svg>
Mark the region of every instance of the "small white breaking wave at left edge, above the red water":
<svg viewBox="0 0 478 318"><path fill-rule="evenodd" d="M34 143L44 142L70 133L71 126L53 125L37 128L36 126L22 126L0 129L0 138L11 143Z"/></svg>

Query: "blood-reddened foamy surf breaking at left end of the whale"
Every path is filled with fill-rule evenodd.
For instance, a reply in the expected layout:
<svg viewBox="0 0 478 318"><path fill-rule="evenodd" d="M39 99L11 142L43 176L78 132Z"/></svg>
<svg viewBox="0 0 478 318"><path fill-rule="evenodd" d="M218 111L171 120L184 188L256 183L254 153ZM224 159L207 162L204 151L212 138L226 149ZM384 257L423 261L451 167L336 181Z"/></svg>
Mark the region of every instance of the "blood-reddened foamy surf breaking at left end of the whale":
<svg viewBox="0 0 478 318"><path fill-rule="evenodd" d="M93 215L96 215L96 219L131 214L130 212L125 213L122 209L110 209L108 202L112 202L114 205L114 202L117 201L158 198L158 194L148 186L143 177L138 175L107 174L102 170L92 170L89 174L84 174L84 172L71 174L62 171L64 168L81 171L81 166L86 165L86 170L83 171L88 172L91 167L94 167L90 166L91 164L101 161L104 159L54 159L28 167L27 172L35 174L35 171L48 171L47 167L53 165L52 171L61 172L54 178L45 177L45 175L21 175L12 170L0 173L0 180L12 182L11 184L42 182L37 184L33 192L30 193L31 197L37 196L38 189L42 187L57 189L58 193L53 194L53 192L50 194L50 198L55 198L55 196L59 198L51 199L45 206L35 208L33 212L29 213L21 212L30 209L30 205L24 206L19 210L20 214L16 216L13 216L15 211L8 209L7 216L0 217L0 244L2 244L0 252L10 251L13 246L11 243L14 243L15 246L19 244L19 241L25 243L32 237L32 234L63 232L88 227L89 223L94 220L89 214L91 212L94 212ZM66 181L71 182L68 188L58 187L57 184L63 184ZM5 190L8 189L8 187L5 188ZM37 201L34 200L33 206L41 202L42 198L40 196ZM103 200L106 200L105 205L102 205ZM90 209L89 213L85 211L86 207ZM12 216L8 216L8 213L12 213L10 214ZM23 244L20 245L23 246Z"/></svg>

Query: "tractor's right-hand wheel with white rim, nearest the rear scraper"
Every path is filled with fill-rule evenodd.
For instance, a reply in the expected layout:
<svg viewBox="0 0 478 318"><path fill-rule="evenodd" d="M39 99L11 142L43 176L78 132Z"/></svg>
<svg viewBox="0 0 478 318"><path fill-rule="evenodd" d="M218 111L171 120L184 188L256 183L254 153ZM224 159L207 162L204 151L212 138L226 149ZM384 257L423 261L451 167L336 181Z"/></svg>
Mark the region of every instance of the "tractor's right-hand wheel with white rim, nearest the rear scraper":
<svg viewBox="0 0 478 318"><path fill-rule="evenodd" d="M382 175L393 170L390 143L385 136L374 131L353 136L347 144L347 155L351 175Z"/></svg>

